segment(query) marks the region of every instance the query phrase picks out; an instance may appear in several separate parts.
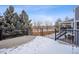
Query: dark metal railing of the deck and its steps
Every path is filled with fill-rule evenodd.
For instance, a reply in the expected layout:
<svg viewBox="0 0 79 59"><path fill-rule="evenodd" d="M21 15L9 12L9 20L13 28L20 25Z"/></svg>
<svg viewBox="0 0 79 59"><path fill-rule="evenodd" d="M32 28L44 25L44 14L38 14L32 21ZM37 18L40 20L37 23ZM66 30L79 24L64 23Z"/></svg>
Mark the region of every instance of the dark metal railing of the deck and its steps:
<svg viewBox="0 0 79 59"><path fill-rule="evenodd" d="M79 46L79 29L76 29L76 30L74 30L74 29L63 29L58 34L57 34L56 29L55 29L55 40L60 39L60 37L62 37L62 36L65 36L64 39L66 39L67 37L70 37L69 39L71 39L72 44Z"/></svg>

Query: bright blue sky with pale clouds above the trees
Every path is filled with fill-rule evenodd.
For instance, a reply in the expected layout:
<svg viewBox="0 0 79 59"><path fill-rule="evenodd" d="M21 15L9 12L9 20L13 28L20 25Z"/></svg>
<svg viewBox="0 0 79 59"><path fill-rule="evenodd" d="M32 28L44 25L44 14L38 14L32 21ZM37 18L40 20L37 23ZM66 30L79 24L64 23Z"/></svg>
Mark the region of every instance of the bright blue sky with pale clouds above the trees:
<svg viewBox="0 0 79 59"><path fill-rule="evenodd" d="M65 17L74 17L74 8L76 5L14 5L15 12L18 14L25 10L29 15L29 19L34 22L49 22L55 24L58 18L62 20ZM0 5L0 15L3 15L8 5Z"/></svg>

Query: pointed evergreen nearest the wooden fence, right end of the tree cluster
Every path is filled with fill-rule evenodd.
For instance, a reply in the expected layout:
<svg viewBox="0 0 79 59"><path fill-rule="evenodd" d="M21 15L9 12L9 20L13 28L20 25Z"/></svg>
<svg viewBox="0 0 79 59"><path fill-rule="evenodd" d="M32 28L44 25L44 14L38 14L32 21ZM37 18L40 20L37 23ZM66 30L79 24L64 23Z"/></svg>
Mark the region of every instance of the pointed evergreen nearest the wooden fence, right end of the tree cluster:
<svg viewBox="0 0 79 59"><path fill-rule="evenodd" d="M23 23L24 31L28 31L28 34L31 34L31 20L29 20L29 17L24 10L22 10L22 13L20 14L20 21Z"/></svg>

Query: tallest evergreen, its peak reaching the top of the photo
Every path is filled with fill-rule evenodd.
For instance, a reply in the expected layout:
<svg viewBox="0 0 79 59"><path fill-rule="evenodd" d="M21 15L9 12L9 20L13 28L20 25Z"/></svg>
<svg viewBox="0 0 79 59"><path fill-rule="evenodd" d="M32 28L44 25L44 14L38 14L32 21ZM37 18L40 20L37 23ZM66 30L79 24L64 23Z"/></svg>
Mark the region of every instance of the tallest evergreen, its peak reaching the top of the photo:
<svg viewBox="0 0 79 59"><path fill-rule="evenodd" d="M6 30L8 32L12 32L14 25L13 25L13 14L14 14L14 7L9 6L4 13L4 21L6 25ZM5 27L5 26L4 26Z"/></svg>

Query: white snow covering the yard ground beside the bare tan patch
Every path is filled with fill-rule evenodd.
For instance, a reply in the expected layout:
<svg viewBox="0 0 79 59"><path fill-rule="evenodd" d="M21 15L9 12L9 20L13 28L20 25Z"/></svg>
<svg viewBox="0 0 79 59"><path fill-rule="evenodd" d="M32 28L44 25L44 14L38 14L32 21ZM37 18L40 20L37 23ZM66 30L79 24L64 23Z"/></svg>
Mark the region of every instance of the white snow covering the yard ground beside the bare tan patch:
<svg viewBox="0 0 79 59"><path fill-rule="evenodd" d="M29 43L18 46L17 48L4 48L0 49L0 53L4 54L68 54L68 53L79 53L79 48L73 47L70 44L63 44L54 39L37 36Z"/></svg>

